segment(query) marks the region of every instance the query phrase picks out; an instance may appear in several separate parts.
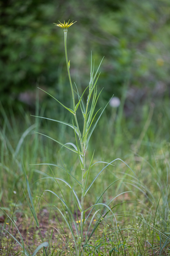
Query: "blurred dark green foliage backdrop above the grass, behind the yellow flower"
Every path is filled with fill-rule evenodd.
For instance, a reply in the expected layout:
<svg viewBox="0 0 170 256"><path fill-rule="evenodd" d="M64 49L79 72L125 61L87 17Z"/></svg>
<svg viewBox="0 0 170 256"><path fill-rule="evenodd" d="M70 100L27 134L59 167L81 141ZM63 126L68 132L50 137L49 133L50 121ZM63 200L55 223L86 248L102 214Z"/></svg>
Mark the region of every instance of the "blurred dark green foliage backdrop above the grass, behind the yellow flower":
<svg viewBox="0 0 170 256"><path fill-rule="evenodd" d="M168 0L6 0L0 1L0 15L3 103L18 101L20 92L34 90L37 83L54 88L59 98L65 93L66 100L63 31L53 24L58 20L77 20L68 33L77 86L88 85L92 50L96 65L105 56L99 82L105 99L113 93L120 97L126 79L133 104L146 95L163 95L168 88ZM138 97L132 92L136 87L141 88Z"/></svg>

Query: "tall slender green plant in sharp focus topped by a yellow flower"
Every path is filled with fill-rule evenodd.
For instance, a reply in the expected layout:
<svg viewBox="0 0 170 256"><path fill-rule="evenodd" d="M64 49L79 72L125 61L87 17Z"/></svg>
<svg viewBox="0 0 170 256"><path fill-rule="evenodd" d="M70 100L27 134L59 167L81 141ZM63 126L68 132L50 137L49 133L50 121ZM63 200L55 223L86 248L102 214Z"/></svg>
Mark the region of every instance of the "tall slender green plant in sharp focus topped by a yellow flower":
<svg viewBox="0 0 170 256"><path fill-rule="evenodd" d="M53 119L49 119L49 118L45 118L48 120L53 120L56 122L60 122L64 125L67 125L69 127L71 127L74 130L75 133L75 144L68 142L66 144L63 144L57 140L55 140L54 138L51 138L47 135L44 135L48 138L50 138L51 140L59 143L60 145L64 146L65 148L67 148L68 150L74 152L77 154L78 158L79 158L79 163L80 163L80 168L81 168L81 180L77 180L66 168L63 168L61 166L55 165L55 164L50 164L50 163L41 163L42 165L46 164L46 165L53 165L56 166L58 168L61 168L62 170L64 170L67 174L68 174L68 178L69 178L69 182L67 182L64 179L61 178L56 178L56 177L45 177L43 179L55 179L56 183L58 184L58 181L62 181L63 183L65 183L66 185L69 186L69 188L71 189L73 196L74 196L74 202L75 202L75 209L76 209L76 213L78 212L77 210L79 209L81 212L81 216L79 217L77 214L77 218L75 219L73 216L73 213L71 211L71 209L68 206L67 201L64 199L64 195L61 191L61 196L58 195L55 191L51 191L46 189L45 191L49 191L50 193L52 193L53 195L55 195L60 201L61 204L63 206L63 210L60 210L57 206L56 209L60 212L61 216L63 217L64 221L66 222L68 228L70 229L70 232L72 234L73 237L73 241L75 242L75 247L77 249L80 249L80 246L83 246L83 248L86 248L86 246L88 246L88 242L90 237L93 235L94 231L97 229L98 225L103 221L103 218L110 212L111 216L115 218L114 213L112 211L112 209L115 207L110 207L110 203L113 201L111 200L109 202L109 205L104 204L104 203L100 203L100 199L102 198L103 194L107 191L107 189L113 185L116 181L112 182L104 191L103 193L100 195L100 197L98 198L98 200L96 201L96 203L89 207L88 209L84 208L84 198L87 194L87 192L89 191L89 189L91 188L91 186L93 185L93 183L95 182L95 180L99 177L99 175L103 172L104 169L106 169L107 166L112 165L112 163L114 161L116 161L117 159L114 159L112 162L107 163L107 162L103 162L103 161L99 161L96 163L93 163L93 157L94 157L94 153L93 156L91 157L91 161L89 166L86 166L86 151L88 148L88 144L89 144L89 140L91 137L91 134L93 133L104 109L101 111L98 119L96 122L94 122L95 120L95 116L97 115L98 111L95 113L95 107L96 107L96 103L97 100L99 98L99 94L97 94L97 81L99 78L100 73L98 74L101 62L99 67L97 68L96 72L94 73L94 63L92 63L92 57L91 57L91 69L90 69L90 82L89 85L87 86L87 88L84 90L83 94L80 95L79 91L75 85L76 88L76 94L78 95L78 102L75 102L75 91L73 89L73 84L71 81L71 76L70 76L70 60L68 61L68 56L67 56L67 32L68 32L68 28L70 26L72 26L74 23L71 22L69 24L69 22L65 23L59 23L56 24L54 23L56 26L63 28L64 31L64 46L65 46L65 54L66 54L66 64L67 64L67 71L68 71L68 76L69 76L69 81L70 81L70 87L71 87L71 92L72 92L72 99L73 99L73 108L70 109L66 106L64 106L61 102L59 102L57 99L55 99L52 95L50 95L52 98L54 98L58 103L60 103L64 108L66 108L73 116L74 116L74 120L75 123L66 123L66 122L62 122L59 120L53 120ZM97 76L98 74L98 76ZM39 88L41 89L41 88ZM42 90L42 89L41 89ZM85 93L85 91L88 90L88 96L87 96L87 100L86 100L86 105L84 105L82 97ZM77 120L77 115L76 115L76 111L77 109L80 108L82 115L83 115L83 130L80 131L80 124ZM40 117L40 116L37 116ZM44 117L43 117L44 118ZM41 133L40 133L41 134ZM119 159L121 160L121 159ZM122 160L121 160L122 161ZM90 185L87 186L88 184L88 176L89 176L89 172L91 167L93 167L95 164L97 163L105 163L105 167L96 175L96 177L93 179L93 181L90 183ZM81 188L81 198L78 197L74 187L71 185L70 182L70 177L73 178L75 180L75 182L80 186ZM119 179L118 179L119 180ZM58 184L59 186L59 184ZM60 188L60 187L59 187ZM127 191L126 191L127 192ZM125 192L124 192L125 193ZM103 212L100 212L99 210L97 210L97 206L100 205L100 207L102 207ZM88 212L88 214L87 214ZM96 221L96 215L98 215L98 221ZM102 217L101 217L102 216ZM101 217L101 218L100 218ZM57 217L56 217L57 218ZM93 221L95 219L95 222ZM92 223L95 223L95 225L93 225L93 227L91 226ZM117 223L116 223L116 219L114 221L115 223L115 230L117 230ZM91 227L91 228L90 228ZM61 226L61 229L62 226ZM64 231L63 231L64 232ZM116 231L117 232L117 231ZM85 238L84 238L85 236Z"/></svg>

